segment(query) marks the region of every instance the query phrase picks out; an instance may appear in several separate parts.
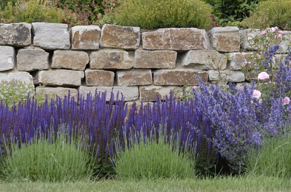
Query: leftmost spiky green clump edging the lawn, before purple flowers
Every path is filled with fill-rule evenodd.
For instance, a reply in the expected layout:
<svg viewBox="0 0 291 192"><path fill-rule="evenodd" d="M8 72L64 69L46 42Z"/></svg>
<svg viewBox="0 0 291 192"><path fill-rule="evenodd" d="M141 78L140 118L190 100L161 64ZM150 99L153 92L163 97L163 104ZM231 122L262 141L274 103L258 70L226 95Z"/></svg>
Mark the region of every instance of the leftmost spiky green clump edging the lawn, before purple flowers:
<svg viewBox="0 0 291 192"><path fill-rule="evenodd" d="M6 143L1 173L7 181L75 181L92 175L92 156L88 155L88 137L67 133L60 125L57 133L38 133L26 143ZM27 139L27 138L26 138Z"/></svg>

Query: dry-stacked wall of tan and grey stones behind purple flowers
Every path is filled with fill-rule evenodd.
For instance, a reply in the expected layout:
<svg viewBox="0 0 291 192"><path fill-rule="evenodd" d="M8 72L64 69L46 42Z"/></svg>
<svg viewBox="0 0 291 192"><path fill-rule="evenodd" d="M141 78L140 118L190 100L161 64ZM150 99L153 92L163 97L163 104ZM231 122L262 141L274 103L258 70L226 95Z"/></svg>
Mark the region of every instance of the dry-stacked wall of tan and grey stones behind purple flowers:
<svg viewBox="0 0 291 192"><path fill-rule="evenodd" d="M61 97L89 92L122 92L126 101L163 99L186 83L217 81L218 71L237 86L245 82L240 65L250 56L255 33L237 27L169 28L66 24L0 24L0 80L33 83L35 93ZM288 36L287 36L288 37ZM282 46L286 49L286 42ZM229 53L226 60L224 53ZM39 85L45 85L44 88ZM109 99L109 95L108 95Z"/></svg>

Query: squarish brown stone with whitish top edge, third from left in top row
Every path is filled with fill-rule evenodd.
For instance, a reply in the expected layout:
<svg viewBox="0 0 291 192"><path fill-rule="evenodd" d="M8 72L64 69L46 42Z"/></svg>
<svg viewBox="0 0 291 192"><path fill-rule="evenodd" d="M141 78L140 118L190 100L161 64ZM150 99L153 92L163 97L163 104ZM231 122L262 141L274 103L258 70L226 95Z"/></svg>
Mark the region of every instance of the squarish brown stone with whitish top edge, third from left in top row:
<svg viewBox="0 0 291 192"><path fill-rule="evenodd" d="M99 26L74 26L72 33L72 50L99 49L101 30Z"/></svg>

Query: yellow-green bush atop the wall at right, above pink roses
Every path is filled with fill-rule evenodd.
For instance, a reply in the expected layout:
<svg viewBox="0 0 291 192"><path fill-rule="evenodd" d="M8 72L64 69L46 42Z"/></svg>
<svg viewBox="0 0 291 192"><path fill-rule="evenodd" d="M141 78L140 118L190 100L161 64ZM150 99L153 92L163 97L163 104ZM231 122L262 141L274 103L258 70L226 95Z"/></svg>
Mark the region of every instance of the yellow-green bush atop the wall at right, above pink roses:
<svg viewBox="0 0 291 192"><path fill-rule="evenodd" d="M243 20L242 26L253 29L265 29L278 26L291 30L291 0L269 0L260 3L256 11Z"/></svg>

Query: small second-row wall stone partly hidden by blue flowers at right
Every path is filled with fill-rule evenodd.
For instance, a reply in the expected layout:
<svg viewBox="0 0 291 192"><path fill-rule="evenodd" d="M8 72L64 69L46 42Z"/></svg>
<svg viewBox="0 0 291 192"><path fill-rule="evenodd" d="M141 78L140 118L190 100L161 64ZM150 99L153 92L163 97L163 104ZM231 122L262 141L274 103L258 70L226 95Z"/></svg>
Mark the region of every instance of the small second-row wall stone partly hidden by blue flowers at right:
<svg viewBox="0 0 291 192"><path fill-rule="evenodd" d="M248 57L250 57L253 53L229 53L229 68L230 70L237 71L241 70L241 66L243 62L248 61Z"/></svg>

